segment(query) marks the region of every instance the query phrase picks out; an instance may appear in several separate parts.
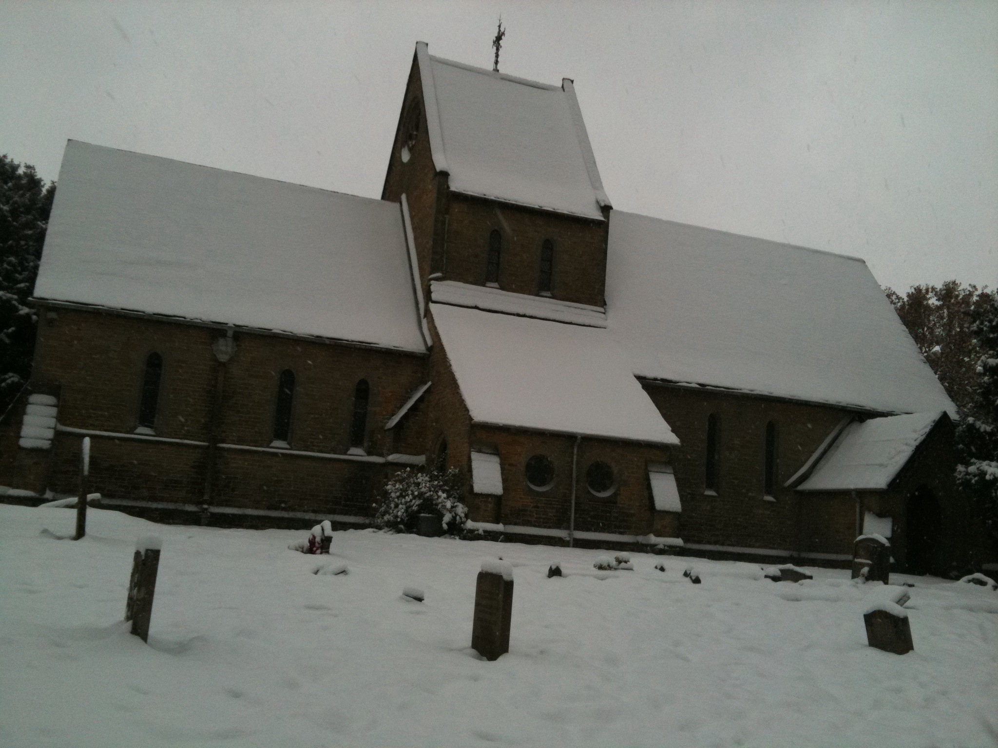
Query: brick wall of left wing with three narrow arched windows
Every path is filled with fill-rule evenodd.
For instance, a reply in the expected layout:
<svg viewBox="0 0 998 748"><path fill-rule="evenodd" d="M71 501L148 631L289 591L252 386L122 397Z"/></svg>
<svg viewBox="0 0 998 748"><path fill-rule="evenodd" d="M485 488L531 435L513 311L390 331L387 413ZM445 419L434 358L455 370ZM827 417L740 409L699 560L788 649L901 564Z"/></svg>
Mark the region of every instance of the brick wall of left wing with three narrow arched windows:
<svg viewBox="0 0 998 748"><path fill-rule="evenodd" d="M138 425L146 358L163 357L156 437L209 441L220 364L212 343L223 332L197 325L115 314L58 309L43 314L33 383L60 386L63 426L131 435ZM295 375L289 444L292 450L342 455L350 447L357 381L370 385L365 448L370 455L423 447L424 414L403 419L400 434L384 424L426 381L427 357L270 335L235 335L237 350L226 369L220 441L268 448L273 437L277 380ZM21 408L23 413L23 407ZM16 445L20 418L0 427L3 479L17 484L38 470L38 455ZM407 430L406 430L407 429ZM79 442L60 433L44 453L48 487L76 491ZM110 498L200 504L204 500L207 447L94 436L93 491ZM9 445L9 446L8 446ZM369 514L372 492L391 471L383 464L220 449L215 505L287 511ZM20 487L20 486L16 486ZM39 487L25 486L30 490ZM310 509L304 509L309 507Z"/></svg>

